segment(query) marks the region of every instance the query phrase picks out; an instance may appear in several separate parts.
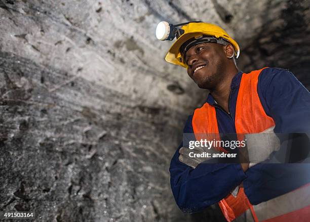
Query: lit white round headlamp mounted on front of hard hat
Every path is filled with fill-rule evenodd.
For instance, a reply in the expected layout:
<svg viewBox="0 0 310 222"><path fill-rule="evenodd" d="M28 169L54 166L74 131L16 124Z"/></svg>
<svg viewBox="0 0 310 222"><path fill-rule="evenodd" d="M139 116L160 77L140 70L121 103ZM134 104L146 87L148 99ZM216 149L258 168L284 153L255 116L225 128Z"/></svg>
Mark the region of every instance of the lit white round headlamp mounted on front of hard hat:
<svg viewBox="0 0 310 222"><path fill-rule="evenodd" d="M192 21L192 22L201 22L201 21ZM184 33L183 29L176 28L181 25L186 25L191 22L180 23L177 25L170 24L168 22L160 22L156 27L156 37L159 40L173 40L174 37L177 39Z"/></svg>

